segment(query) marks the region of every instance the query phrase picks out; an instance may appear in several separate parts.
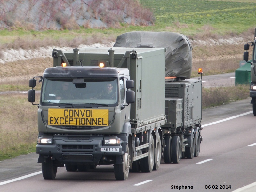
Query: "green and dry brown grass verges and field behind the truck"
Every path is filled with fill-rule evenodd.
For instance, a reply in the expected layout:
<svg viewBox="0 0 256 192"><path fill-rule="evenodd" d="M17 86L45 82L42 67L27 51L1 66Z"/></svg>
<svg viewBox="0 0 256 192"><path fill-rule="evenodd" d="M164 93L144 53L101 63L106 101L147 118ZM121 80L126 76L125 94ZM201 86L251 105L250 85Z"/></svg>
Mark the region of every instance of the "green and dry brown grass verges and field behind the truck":
<svg viewBox="0 0 256 192"><path fill-rule="evenodd" d="M244 1L243 1L244 2ZM24 29L0 31L0 50L36 49L40 46L70 46L115 41L128 31L172 31L187 35L191 40L234 37L253 31L255 1L141 1L151 8L156 18L154 26L62 31L29 31ZM253 36L252 36L253 37ZM252 39L249 37L249 40ZM197 45L193 50L193 72L204 69L204 75L234 72L242 59L243 45ZM237 56L240 55L240 56ZM0 52L0 58L3 57ZM28 90L28 76L43 73L52 66L52 58L30 59L0 64L0 91ZM24 76L22 78L22 76ZM19 77L19 80L16 79ZM21 78L20 78L21 77ZM8 81L3 81L4 79ZM37 89L40 89L37 87ZM227 97L229 95L230 97ZM211 107L248 97L248 87L219 87L203 89L203 106ZM38 98L37 98L38 99ZM0 100L0 160L35 151L37 140L37 107L27 102L27 95L1 95Z"/></svg>

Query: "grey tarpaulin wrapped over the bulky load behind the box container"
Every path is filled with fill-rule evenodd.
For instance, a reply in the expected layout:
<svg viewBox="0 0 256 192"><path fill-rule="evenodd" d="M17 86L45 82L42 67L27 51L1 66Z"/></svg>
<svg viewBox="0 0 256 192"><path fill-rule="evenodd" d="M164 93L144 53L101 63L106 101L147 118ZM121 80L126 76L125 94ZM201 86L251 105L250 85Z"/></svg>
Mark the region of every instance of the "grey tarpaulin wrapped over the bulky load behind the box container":
<svg viewBox="0 0 256 192"><path fill-rule="evenodd" d="M119 35L114 47L167 48L165 76L189 79L192 70L192 46L187 36L174 32L133 31Z"/></svg>

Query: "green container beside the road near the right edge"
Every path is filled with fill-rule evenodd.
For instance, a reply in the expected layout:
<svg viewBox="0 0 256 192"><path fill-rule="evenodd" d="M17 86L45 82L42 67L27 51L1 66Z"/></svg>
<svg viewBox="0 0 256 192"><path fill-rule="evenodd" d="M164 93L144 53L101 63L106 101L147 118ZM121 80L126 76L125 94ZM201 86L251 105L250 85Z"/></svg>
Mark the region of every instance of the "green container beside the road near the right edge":
<svg viewBox="0 0 256 192"><path fill-rule="evenodd" d="M235 71L235 85L251 84L251 63L245 63Z"/></svg>

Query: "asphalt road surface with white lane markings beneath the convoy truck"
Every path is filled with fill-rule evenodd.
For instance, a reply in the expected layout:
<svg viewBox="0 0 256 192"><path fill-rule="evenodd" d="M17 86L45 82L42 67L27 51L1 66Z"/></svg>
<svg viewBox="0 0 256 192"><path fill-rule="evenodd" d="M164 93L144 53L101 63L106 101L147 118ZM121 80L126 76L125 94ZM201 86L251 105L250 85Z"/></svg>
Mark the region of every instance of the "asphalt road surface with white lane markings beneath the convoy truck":
<svg viewBox="0 0 256 192"><path fill-rule="evenodd" d="M201 153L180 164L162 162L157 171L129 173L126 181L115 180L111 165L89 172L59 168L55 180L44 180L38 155L31 153L0 162L0 191L256 191L256 117L250 98L204 109L202 117ZM241 189L250 184L251 188Z"/></svg>

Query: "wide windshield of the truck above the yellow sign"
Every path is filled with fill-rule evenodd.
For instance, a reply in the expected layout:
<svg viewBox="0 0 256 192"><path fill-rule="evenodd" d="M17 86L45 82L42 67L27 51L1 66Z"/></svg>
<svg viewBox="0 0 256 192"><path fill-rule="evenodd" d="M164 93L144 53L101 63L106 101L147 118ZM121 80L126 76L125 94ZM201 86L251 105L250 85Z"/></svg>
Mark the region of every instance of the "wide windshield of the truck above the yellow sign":
<svg viewBox="0 0 256 192"><path fill-rule="evenodd" d="M42 104L116 106L116 78L44 78Z"/></svg>

